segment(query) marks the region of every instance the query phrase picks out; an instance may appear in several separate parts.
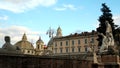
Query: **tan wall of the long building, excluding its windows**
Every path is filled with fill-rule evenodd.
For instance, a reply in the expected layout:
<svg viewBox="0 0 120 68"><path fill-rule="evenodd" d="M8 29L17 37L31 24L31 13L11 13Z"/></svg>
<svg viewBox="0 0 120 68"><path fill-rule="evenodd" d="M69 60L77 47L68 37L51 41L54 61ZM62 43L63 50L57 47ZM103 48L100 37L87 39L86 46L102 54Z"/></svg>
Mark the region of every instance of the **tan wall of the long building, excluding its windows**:
<svg viewBox="0 0 120 68"><path fill-rule="evenodd" d="M94 39L94 42L91 43L92 38ZM87 39L87 43L85 43L85 39ZM78 36L78 37L68 37L68 38L58 38L54 40L53 43L53 53L54 54L64 54L64 53L82 53L86 52L86 47L91 47L91 45L94 45L94 49L98 49L98 41L97 35L94 36ZM78 44L78 40L80 40L80 44ZM68 45L66 45L66 41L68 41ZM72 45L72 41L74 41L74 45ZM62 42L62 46L61 46ZM57 44L57 46L56 46ZM66 52L66 48L68 48L68 52ZM72 52L72 48L74 48L74 52ZM80 52L78 50L80 48ZM56 51L57 49L57 51ZM62 52L61 50L62 49Z"/></svg>

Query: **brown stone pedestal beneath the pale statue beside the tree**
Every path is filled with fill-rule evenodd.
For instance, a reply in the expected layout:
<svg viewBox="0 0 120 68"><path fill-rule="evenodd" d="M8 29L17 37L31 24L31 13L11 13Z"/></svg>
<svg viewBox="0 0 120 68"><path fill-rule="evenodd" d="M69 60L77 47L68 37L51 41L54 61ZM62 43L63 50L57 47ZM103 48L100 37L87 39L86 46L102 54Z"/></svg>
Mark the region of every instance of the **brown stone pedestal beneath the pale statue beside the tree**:
<svg viewBox="0 0 120 68"><path fill-rule="evenodd" d="M103 55L101 62L94 63L92 68L120 68L120 57L118 55Z"/></svg>

